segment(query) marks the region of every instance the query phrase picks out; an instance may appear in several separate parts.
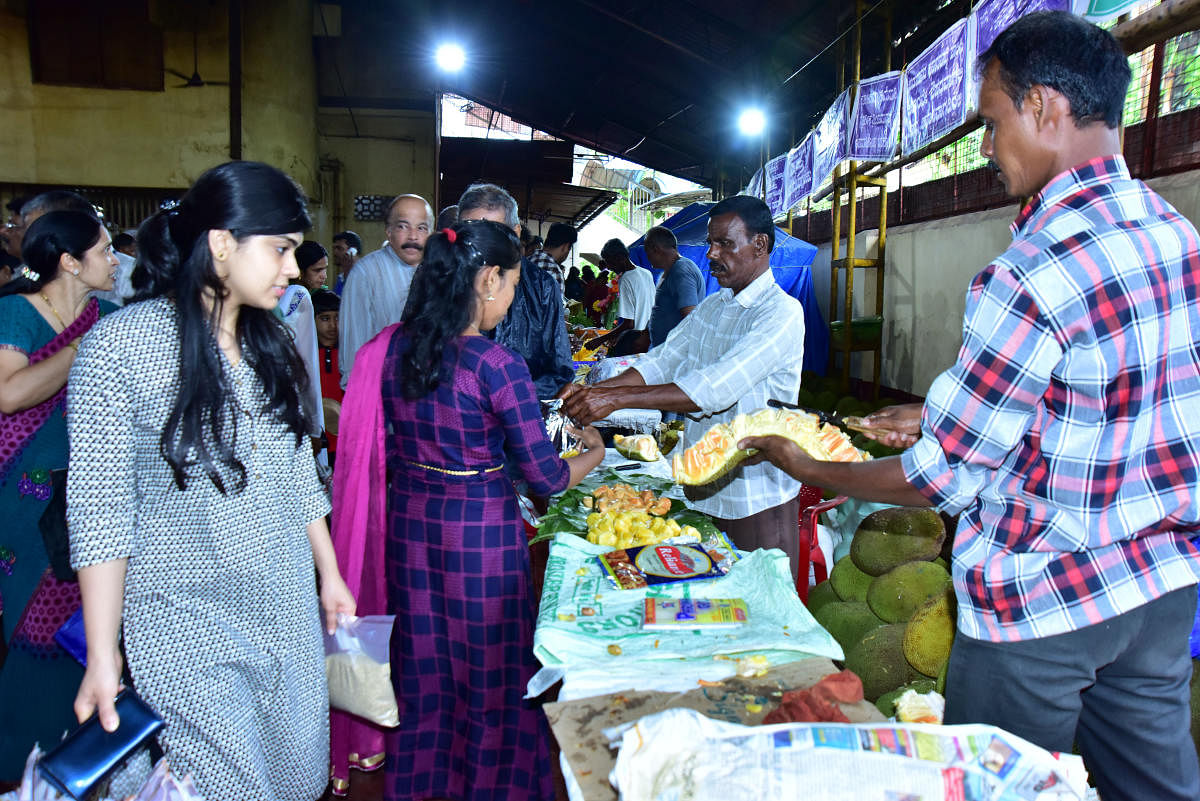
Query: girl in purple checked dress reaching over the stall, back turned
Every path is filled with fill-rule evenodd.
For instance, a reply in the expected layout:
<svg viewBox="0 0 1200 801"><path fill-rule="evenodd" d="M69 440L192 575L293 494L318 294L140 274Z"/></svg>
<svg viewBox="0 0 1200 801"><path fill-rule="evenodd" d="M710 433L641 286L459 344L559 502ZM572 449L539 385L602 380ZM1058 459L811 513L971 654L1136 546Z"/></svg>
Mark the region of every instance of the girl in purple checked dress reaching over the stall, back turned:
<svg viewBox="0 0 1200 801"><path fill-rule="evenodd" d="M378 381L390 478L384 564L400 725L388 739L388 799L553 797L550 731L522 700L536 668L535 600L504 465L551 495L596 466L604 445L588 428L588 450L559 458L523 360L480 336L508 312L520 260L520 240L499 223L431 236L404 323L364 348L350 380L348 398Z"/></svg>

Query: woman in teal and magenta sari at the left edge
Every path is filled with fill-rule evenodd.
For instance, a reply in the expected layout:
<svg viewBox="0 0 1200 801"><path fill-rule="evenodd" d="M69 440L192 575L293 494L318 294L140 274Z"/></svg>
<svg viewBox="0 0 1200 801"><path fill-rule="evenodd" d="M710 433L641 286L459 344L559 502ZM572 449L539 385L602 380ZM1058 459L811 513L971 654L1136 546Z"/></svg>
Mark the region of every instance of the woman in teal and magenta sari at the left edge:
<svg viewBox="0 0 1200 801"><path fill-rule="evenodd" d="M89 299L113 287L116 259L94 215L52 211L29 227L25 266L0 289L0 608L8 656L0 667L0 781L19 781L35 742L74 725L83 668L54 642L79 608L79 585L60 580L38 519L52 474L67 466L67 373L79 338L115 311Z"/></svg>

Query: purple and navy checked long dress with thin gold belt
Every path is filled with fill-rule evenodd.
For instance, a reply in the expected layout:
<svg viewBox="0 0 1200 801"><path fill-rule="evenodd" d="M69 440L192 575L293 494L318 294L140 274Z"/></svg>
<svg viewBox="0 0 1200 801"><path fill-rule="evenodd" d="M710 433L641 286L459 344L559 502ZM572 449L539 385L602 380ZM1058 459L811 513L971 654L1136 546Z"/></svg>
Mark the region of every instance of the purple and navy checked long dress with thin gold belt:
<svg viewBox="0 0 1200 801"><path fill-rule="evenodd" d="M553 799L545 716L522 700L536 669L529 549L505 462L532 492L570 471L524 361L484 337L446 347L428 396L401 392L407 339L383 371L392 683L386 797Z"/></svg>

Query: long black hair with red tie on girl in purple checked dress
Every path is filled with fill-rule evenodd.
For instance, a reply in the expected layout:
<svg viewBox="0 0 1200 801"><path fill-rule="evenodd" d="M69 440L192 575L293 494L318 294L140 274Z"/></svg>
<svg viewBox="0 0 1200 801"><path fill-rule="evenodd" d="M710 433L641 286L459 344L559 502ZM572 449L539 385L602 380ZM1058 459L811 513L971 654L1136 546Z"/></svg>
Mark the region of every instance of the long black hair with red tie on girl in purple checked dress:
<svg viewBox="0 0 1200 801"><path fill-rule="evenodd" d="M500 223L474 219L456 224L454 240L438 231L425 242L425 260L413 276L404 306L408 351L401 360L401 391L424 398L442 381L446 344L475 314L475 276L485 266L508 272L521 263L521 240Z"/></svg>

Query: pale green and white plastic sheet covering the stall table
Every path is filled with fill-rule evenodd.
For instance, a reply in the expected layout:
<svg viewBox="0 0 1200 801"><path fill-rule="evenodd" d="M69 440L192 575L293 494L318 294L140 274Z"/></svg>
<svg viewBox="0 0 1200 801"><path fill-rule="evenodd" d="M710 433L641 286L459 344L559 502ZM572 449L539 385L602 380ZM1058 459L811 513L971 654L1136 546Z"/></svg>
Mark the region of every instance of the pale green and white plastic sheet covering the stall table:
<svg viewBox="0 0 1200 801"><path fill-rule="evenodd" d="M662 487L668 481L666 459L628 472L607 469L625 464L630 460L608 452L598 472L605 481L634 486ZM678 487L666 494L676 500L683 496ZM556 536L534 634L544 668L529 682L530 697L558 681L563 682L559 703L626 691L682 693L700 681L730 679L739 662L744 669L755 669L811 657L842 658L841 648L797 597L782 552L743 554L721 578L617 590L595 559L608 550L575 534ZM643 632L647 596L742 598L749 620L731 631ZM832 673L832 663L828 667ZM565 759L564 776L572 799L590 797L581 791Z"/></svg>

